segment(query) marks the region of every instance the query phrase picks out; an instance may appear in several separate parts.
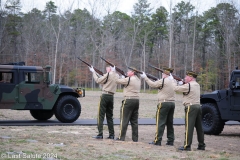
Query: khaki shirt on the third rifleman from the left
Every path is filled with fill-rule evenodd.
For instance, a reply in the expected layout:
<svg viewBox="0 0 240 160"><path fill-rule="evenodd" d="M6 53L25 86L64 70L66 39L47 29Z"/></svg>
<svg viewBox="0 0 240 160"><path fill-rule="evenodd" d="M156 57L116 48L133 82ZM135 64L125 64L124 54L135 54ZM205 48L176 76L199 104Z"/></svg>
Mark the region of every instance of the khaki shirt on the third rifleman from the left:
<svg viewBox="0 0 240 160"><path fill-rule="evenodd" d="M145 81L153 88L161 88L163 84L163 88L158 89L158 102L169 102L175 100L175 84L173 79L164 78L164 82L163 79L153 82L148 77L145 77Z"/></svg>

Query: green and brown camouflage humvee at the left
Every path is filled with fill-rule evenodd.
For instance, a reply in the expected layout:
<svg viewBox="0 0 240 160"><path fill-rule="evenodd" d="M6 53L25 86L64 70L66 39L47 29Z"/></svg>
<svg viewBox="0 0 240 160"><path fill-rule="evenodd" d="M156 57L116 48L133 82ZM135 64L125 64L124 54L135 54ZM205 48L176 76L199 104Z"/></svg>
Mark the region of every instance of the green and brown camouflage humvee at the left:
<svg viewBox="0 0 240 160"><path fill-rule="evenodd" d="M24 62L0 64L0 109L30 110L37 120L53 115L71 123L81 114L77 98L85 96L82 88L51 84L50 66L25 66Z"/></svg>

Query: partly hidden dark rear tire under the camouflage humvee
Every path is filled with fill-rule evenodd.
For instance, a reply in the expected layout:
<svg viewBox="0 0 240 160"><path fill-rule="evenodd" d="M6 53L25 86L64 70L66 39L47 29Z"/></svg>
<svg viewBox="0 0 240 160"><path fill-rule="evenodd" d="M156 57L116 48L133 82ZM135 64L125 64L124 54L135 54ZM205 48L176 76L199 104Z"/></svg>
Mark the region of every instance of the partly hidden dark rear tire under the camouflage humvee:
<svg viewBox="0 0 240 160"><path fill-rule="evenodd" d="M30 113L33 118L41 121L46 121L53 116L52 110L30 110Z"/></svg>

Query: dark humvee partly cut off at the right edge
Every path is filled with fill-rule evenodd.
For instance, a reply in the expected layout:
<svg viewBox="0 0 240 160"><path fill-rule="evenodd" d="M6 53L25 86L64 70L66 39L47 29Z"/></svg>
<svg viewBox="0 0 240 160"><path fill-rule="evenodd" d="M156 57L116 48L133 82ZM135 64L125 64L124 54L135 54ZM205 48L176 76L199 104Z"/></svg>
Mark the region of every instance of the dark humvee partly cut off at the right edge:
<svg viewBox="0 0 240 160"><path fill-rule="evenodd" d="M240 70L232 71L229 89L203 94L200 101L205 134L220 134L226 121L240 122Z"/></svg>

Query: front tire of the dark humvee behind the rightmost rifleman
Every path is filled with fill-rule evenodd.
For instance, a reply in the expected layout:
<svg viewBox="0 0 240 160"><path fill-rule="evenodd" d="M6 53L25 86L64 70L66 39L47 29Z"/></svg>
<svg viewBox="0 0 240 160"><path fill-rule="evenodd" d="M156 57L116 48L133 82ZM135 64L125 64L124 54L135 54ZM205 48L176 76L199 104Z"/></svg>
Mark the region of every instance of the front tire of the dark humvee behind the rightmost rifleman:
<svg viewBox="0 0 240 160"><path fill-rule="evenodd" d="M215 104L202 104L202 126L205 134L219 135L224 125L225 122L221 119Z"/></svg>

